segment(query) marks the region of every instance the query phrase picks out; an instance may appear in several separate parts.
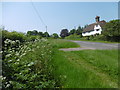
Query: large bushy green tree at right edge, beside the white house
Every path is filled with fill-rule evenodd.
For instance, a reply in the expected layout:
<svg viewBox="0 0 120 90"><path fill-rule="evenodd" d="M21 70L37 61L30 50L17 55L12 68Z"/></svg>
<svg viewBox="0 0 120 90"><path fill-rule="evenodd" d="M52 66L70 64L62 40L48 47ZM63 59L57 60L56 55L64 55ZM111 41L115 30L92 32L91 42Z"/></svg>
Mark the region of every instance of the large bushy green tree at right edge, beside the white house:
<svg viewBox="0 0 120 90"><path fill-rule="evenodd" d="M120 41L120 20L111 20L103 28L102 34L105 40Z"/></svg>

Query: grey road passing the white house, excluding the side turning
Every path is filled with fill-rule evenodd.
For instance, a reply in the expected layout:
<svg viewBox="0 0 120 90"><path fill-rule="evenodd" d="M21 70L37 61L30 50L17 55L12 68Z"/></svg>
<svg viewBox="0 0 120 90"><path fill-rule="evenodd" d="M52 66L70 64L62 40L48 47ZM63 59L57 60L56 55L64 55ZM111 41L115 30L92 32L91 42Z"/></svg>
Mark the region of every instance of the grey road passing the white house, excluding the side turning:
<svg viewBox="0 0 120 90"><path fill-rule="evenodd" d="M90 48L90 49L118 49L118 46L120 46L117 43L100 43L100 42L88 42L88 41L75 41L70 40L72 42L75 42L81 46L81 48Z"/></svg>

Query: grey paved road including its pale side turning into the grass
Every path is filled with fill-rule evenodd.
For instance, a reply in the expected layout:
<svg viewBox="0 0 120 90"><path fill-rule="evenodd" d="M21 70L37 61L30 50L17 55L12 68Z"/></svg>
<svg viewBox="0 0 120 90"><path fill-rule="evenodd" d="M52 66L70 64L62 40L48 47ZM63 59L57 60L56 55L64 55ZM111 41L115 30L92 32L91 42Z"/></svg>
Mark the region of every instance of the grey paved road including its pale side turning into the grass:
<svg viewBox="0 0 120 90"><path fill-rule="evenodd" d="M71 42L75 42L80 45L78 48L61 48L59 50L63 51L79 51L79 50L104 50L104 49L118 49L118 46L120 46L120 43L100 43L100 42L88 42L88 41L75 41L75 40L69 40ZM120 49L120 48L119 48Z"/></svg>

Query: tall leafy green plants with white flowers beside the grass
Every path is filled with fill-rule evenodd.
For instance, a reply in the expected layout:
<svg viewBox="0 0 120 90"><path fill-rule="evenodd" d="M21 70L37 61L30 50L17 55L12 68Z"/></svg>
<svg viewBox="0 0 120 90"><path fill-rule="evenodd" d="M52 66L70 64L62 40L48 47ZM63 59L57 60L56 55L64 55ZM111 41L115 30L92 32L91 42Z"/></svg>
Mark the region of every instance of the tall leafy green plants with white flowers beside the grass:
<svg viewBox="0 0 120 90"><path fill-rule="evenodd" d="M21 44L4 41L2 53L2 88L55 87L52 75L52 47L46 39Z"/></svg>

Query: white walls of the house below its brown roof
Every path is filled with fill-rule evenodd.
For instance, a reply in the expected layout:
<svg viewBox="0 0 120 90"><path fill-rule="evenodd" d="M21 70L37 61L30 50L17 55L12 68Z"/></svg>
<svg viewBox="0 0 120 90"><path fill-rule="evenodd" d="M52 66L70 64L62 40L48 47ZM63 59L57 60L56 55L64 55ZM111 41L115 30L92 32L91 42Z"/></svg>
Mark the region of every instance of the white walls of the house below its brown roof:
<svg viewBox="0 0 120 90"><path fill-rule="evenodd" d="M95 25L94 31L82 33L82 36L91 36L95 34L101 34L101 31L102 31L102 28L100 27L100 25Z"/></svg>

